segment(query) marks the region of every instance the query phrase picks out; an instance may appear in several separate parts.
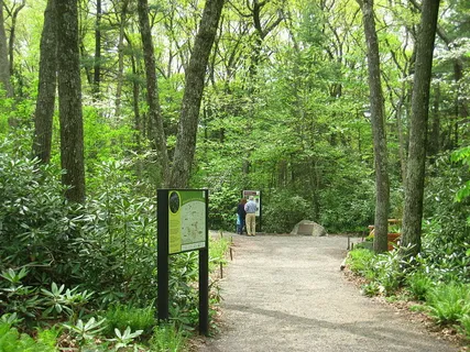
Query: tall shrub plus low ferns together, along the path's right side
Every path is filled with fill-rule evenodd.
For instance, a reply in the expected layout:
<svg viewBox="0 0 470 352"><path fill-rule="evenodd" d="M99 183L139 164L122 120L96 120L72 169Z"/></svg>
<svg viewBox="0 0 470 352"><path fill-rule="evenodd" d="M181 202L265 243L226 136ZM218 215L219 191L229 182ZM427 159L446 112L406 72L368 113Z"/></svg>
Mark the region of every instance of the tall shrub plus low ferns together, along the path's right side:
<svg viewBox="0 0 470 352"><path fill-rule="evenodd" d="M417 256L405 261L397 250L375 255L357 249L347 262L352 273L365 278L365 295L417 300L436 323L470 338L470 204L468 193L445 191L449 186L456 190L468 187L462 186L467 173L449 157L436 161L427 188L423 249Z"/></svg>

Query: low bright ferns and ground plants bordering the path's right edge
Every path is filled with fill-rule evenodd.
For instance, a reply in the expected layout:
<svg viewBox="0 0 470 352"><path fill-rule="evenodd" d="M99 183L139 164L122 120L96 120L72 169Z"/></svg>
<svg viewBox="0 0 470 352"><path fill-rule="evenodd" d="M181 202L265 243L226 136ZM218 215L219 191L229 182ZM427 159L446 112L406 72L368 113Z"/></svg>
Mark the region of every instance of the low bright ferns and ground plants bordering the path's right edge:
<svg viewBox="0 0 470 352"><path fill-rule="evenodd" d="M453 326L470 337L470 284L469 278L455 279L455 274L442 271L430 258L420 257L411 265L402 261L398 251L373 254L358 249L349 253L347 264L351 272L362 276L361 290L367 296L383 295L393 299L420 302L427 315L438 324Z"/></svg>

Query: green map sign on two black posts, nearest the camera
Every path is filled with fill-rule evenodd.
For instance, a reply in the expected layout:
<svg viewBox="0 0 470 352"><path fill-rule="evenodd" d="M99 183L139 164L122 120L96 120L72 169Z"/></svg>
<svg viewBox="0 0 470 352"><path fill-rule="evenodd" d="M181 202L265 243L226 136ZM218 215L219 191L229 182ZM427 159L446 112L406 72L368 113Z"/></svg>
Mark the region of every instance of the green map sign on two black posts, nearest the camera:
<svg viewBox="0 0 470 352"><path fill-rule="evenodd" d="M168 257L199 251L199 333L209 333L209 232L207 189L157 190L157 310L168 320Z"/></svg>

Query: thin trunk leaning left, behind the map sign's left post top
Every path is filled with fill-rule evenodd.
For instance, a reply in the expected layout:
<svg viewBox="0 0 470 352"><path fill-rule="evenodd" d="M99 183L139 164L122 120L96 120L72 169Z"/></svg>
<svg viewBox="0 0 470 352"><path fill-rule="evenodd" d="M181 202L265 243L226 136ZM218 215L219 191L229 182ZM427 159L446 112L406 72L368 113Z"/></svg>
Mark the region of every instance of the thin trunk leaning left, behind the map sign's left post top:
<svg viewBox="0 0 470 352"><path fill-rule="evenodd" d="M159 101L159 88L155 70L155 55L153 53L152 33L149 24L149 4L147 0L139 0L139 25L142 36L142 46L145 63L146 77L146 102L149 105L149 120L152 123L152 140L159 152L159 161L163 186L170 180L170 161L166 150L166 136L163 129L163 118Z"/></svg>

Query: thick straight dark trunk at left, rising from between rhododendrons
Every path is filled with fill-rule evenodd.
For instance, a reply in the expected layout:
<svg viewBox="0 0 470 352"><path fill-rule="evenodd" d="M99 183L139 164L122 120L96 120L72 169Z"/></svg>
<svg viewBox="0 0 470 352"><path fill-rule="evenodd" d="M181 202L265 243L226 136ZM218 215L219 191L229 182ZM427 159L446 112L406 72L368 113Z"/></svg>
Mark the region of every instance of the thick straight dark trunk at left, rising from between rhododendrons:
<svg viewBox="0 0 470 352"><path fill-rule="evenodd" d="M56 2L58 109L61 121L61 165L65 169L66 198L85 200L84 125L78 51L77 0Z"/></svg>

